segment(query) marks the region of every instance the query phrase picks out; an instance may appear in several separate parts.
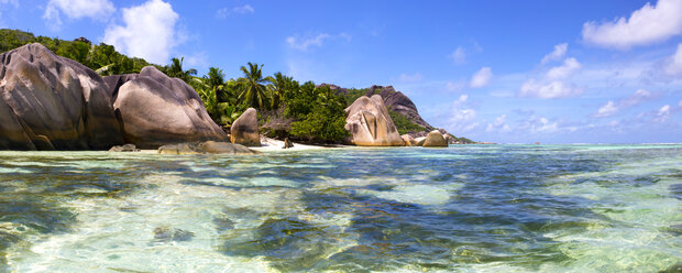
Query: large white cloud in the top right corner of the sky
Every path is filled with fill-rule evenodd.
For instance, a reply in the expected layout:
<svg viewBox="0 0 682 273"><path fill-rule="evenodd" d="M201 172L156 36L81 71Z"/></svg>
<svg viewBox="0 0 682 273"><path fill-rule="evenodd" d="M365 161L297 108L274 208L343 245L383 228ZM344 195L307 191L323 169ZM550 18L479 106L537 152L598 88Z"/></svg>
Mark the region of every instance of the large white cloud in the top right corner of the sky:
<svg viewBox="0 0 682 273"><path fill-rule="evenodd" d="M627 50L632 46L662 42L682 33L682 1L659 0L649 2L630 14L613 22L586 22L583 24L585 42L612 48Z"/></svg>

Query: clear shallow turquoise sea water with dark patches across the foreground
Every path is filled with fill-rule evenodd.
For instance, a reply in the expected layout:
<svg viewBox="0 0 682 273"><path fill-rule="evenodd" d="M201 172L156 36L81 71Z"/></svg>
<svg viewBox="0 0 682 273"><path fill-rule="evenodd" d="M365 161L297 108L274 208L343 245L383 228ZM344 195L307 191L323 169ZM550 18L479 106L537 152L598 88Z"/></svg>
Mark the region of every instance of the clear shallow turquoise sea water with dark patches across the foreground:
<svg viewBox="0 0 682 273"><path fill-rule="evenodd" d="M0 272L675 272L675 264L682 145L238 157L0 152Z"/></svg>

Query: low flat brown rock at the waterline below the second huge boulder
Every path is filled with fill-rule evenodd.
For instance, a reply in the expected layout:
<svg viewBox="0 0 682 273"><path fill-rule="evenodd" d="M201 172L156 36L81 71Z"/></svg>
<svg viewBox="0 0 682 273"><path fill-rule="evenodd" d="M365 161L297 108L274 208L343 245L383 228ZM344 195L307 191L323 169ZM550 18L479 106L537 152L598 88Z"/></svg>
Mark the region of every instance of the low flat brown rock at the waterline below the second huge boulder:
<svg viewBox="0 0 682 273"><path fill-rule="evenodd" d="M207 141L199 144L179 143L158 148L160 154L258 154L244 145L230 142Z"/></svg>

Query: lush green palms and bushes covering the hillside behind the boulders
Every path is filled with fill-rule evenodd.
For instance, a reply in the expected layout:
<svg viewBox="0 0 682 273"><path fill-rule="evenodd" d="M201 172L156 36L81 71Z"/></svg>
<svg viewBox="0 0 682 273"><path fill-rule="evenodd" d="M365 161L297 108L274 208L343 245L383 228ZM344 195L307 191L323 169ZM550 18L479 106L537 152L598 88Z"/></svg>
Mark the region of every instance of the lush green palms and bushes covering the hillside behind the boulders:
<svg viewBox="0 0 682 273"><path fill-rule="evenodd" d="M172 58L169 65L162 66L143 58L128 57L112 45L94 45L84 37L65 41L34 36L19 30L0 30L0 52L29 43L41 43L57 55L75 59L101 76L140 73L142 67L153 65L169 77L180 78L190 85L216 123L229 128L243 111L253 107L258 110L263 133L299 141L343 141L349 134L344 130L343 109L369 90L336 92L329 86L316 86L312 81L300 84L282 73L266 76L263 75L263 64L256 63L240 67L242 75L238 78L227 78L218 67L210 67L207 75L197 76L196 69L183 67L183 57ZM424 130L397 112L389 110L389 113L402 134Z"/></svg>

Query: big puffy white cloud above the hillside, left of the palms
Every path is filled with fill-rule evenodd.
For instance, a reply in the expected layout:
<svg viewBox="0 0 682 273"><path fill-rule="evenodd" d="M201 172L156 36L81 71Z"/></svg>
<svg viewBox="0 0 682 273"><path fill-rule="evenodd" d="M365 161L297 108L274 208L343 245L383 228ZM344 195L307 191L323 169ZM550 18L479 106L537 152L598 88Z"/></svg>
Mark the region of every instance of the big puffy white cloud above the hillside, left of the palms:
<svg viewBox="0 0 682 273"><path fill-rule="evenodd" d="M169 3L148 0L141 6L123 9L124 25L112 25L105 31L105 43L135 57L165 64L170 51L178 44L175 24L179 18Z"/></svg>

